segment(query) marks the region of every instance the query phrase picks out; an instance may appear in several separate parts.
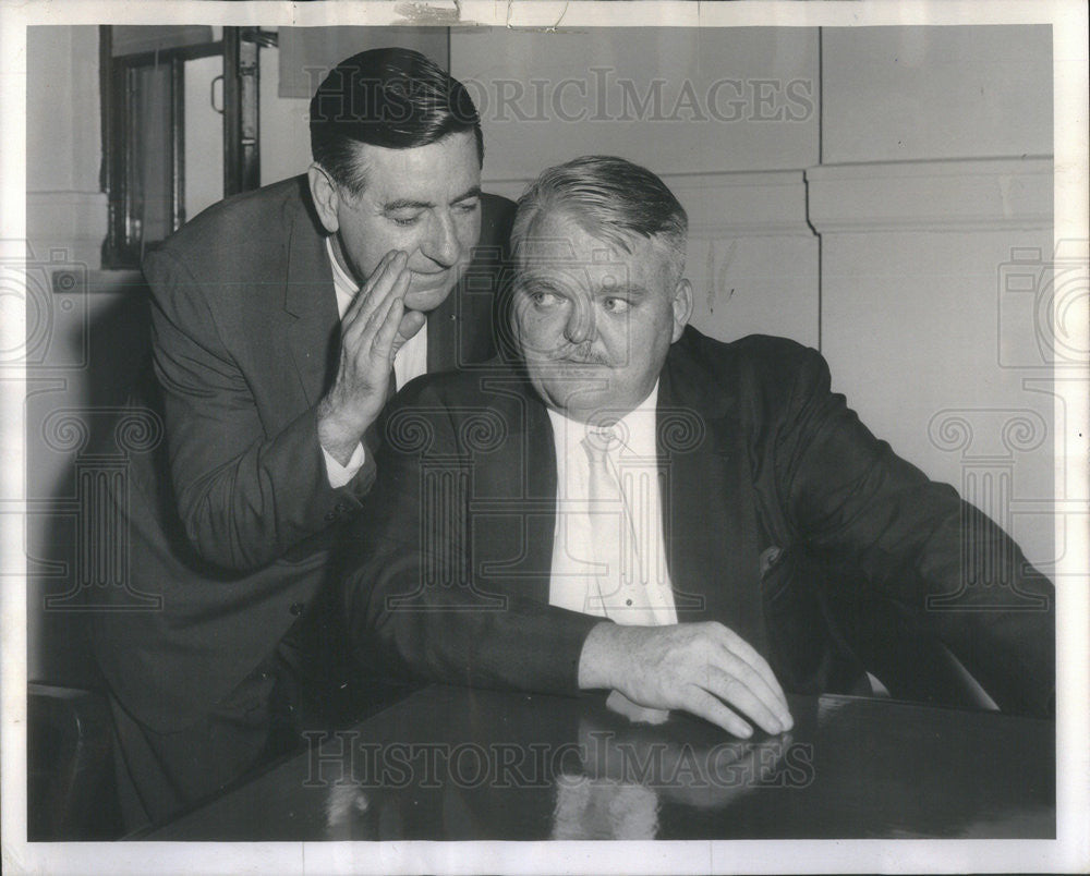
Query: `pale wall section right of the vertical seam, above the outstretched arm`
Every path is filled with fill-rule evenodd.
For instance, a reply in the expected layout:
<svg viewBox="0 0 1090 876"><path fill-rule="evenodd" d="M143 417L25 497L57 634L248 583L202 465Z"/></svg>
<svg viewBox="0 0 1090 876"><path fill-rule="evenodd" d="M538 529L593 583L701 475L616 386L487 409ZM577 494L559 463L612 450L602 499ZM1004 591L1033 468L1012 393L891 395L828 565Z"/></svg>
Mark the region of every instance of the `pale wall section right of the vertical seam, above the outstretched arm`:
<svg viewBox="0 0 1090 876"><path fill-rule="evenodd" d="M807 179L834 386L1051 572L1051 367L1010 354L1051 331L1024 308L1050 294L1051 28L825 28L821 77Z"/></svg>

